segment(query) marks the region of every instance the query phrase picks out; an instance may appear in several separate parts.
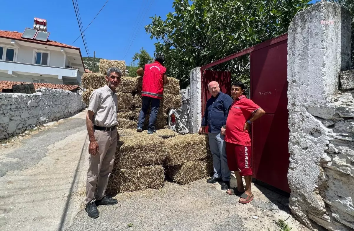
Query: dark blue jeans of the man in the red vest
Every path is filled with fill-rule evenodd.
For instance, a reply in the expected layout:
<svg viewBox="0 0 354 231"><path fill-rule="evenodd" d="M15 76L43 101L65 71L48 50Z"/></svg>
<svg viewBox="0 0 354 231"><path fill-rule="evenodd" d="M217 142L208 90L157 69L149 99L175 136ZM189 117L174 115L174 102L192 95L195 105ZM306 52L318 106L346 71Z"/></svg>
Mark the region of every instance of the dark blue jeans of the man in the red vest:
<svg viewBox="0 0 354 231"><path fill-rule="evenodd" d="M152 98L152 97L143 96L142 101L143 101L143 103L142 103L142 107L141 107L140 114L139 114L138 127L141 127L141 128L143 127L143 124L145 122L145 116L149 110L150 103L151 103L151 111L150 111L148 130L154 130L155 129L155 121L157 118L157 112L159 111L161 100L159 98Z"/></svg>

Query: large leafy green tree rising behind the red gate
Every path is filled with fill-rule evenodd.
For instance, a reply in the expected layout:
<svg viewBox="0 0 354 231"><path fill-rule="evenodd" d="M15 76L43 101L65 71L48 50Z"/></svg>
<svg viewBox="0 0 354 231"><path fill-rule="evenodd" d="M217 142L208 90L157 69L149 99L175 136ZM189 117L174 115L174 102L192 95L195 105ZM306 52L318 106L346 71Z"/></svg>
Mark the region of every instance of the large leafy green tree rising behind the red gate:
<svg viewBox="0 0 354 231"><path fill-rule="evenodd" d="M287 32L295 14L310 0L175 0L166 20L154 16L145 26L158 39L156 53L165 56L167 75L189 85L189 71ZM213 69L247 76L249 59L242 56ZM247 71L248 70L248 71Z"/></svg>

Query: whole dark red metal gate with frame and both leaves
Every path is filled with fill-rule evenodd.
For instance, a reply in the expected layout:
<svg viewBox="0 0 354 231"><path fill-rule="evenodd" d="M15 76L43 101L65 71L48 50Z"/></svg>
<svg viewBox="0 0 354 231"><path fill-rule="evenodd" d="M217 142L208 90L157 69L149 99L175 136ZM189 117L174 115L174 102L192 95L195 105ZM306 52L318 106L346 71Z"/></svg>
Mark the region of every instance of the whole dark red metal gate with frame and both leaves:
<svg viewBox="0 0 354 231"><path fill-rule="evenodd" d="M265 41L201 67L202 114L210 97L207 84L218 81L230 95L230 73L209 71L225 61L250 54L251 99L266 114L252 125L253 178L290 192L287 111L287 34Z"/></svg>

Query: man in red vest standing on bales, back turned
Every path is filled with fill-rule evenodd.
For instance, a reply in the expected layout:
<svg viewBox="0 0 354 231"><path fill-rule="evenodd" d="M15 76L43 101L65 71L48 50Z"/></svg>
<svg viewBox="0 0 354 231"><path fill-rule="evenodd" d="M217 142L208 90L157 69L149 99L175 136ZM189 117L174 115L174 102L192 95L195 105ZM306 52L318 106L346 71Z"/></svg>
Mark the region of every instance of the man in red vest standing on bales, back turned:
<svg viewBox="0 0 354 231"><path fill-rule="evenodd" d="M164 92L164 85L167 84L166 67L162 66L165 62L163 55L156 55L155 62L145 64L144 67L139 68L136 73L143 76L143 88L141 91L142 108L139 114L137 131L143 130L146 113L150 111L150 119L148 126L148 134L153 134L155 130L155 121L157 112L159 111L160 101Z"/></svg>

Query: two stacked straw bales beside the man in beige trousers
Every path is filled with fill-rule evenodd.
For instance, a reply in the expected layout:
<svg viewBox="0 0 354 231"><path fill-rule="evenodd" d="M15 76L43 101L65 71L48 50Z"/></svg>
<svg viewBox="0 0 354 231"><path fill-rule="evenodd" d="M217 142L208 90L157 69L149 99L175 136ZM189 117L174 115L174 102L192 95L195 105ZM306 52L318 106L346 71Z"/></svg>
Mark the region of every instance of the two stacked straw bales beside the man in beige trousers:
<svg viewBox="0 0 354 231"><path fill-rule="evenodd" d="M135 130L120 130L119 134L120 141L107 193L115 195L163 187L165 175L162 163L166 155L164 140L158 134L148 135Z"/></svg>

